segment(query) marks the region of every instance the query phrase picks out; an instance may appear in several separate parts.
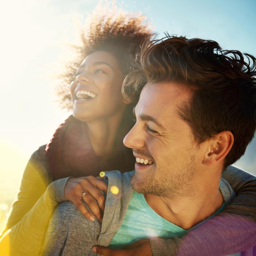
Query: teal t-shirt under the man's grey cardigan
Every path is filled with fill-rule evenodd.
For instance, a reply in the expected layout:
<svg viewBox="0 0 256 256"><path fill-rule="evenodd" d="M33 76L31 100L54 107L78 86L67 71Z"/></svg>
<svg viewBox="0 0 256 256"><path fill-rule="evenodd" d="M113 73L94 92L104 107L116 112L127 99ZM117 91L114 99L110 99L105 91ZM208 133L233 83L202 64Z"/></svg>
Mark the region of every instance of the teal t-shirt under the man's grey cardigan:
<svg viewBox="0 0 256 256"><path fill-rule="evenodd" d="M225 203L214 215L224 208ZM162 218L148 205L143 194L134 191L124 221L114 235L109 247L122 248L143 238L182 237L188 231Z"/></svg>

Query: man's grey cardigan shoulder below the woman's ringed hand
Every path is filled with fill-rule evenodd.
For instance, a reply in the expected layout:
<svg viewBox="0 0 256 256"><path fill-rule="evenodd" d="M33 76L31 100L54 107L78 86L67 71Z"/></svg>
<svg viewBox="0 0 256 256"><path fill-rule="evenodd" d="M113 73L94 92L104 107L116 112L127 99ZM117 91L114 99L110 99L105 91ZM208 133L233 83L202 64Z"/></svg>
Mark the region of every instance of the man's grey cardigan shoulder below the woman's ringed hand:
<svg viewBox="0 0 256 256"><path fill-rule="evenodd" d="M44 255L91 255L100 228L97 219L89 221L72 202L62 202L55 209L45 233Z"/></svg>

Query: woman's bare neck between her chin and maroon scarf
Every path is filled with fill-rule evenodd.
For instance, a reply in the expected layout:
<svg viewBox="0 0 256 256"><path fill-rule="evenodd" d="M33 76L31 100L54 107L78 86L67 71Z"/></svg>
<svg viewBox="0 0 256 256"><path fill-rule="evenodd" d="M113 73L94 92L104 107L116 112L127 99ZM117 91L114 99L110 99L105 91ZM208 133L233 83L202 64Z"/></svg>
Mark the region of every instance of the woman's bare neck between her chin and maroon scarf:
<svg viewBox="0 0 256 256"><path fill-rule="evenodd" d="M126 106L123 104L112 116L87 123L91 145L97 156L109 158L113 154L116 135Z"/></svg>

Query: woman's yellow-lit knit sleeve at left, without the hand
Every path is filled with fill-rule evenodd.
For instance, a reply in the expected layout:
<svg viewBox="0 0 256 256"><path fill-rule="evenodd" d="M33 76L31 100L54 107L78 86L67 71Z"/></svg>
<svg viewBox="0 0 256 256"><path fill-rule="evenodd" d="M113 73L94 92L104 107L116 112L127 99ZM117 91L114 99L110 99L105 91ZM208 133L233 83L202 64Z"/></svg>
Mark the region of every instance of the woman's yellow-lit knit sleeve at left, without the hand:
<svg viewBox="0 0 256 256"><path fill-rule="evenodd" d="M54 208L66 200L64 187L68 178L50 183L43 150L39 148L26 166L17 199L1 234L0 255L38 255Z"/></svg>

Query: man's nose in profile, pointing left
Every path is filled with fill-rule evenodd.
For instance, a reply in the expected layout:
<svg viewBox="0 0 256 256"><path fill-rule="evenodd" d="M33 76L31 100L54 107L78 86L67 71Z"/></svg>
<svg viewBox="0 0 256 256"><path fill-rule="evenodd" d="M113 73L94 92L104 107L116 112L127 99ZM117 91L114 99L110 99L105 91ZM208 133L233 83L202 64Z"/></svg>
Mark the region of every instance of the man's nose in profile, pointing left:
<svg viewBox="0 0 256 256"><path fill-rule="evenodd" d="M139 125L135 124L132 127L124 137L123 143L124 146L135 149L143 148L145 146L143 131L140 131Z"/></svg>

